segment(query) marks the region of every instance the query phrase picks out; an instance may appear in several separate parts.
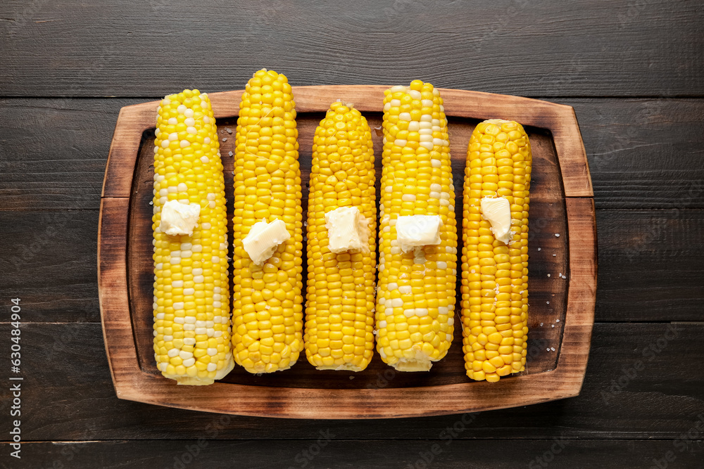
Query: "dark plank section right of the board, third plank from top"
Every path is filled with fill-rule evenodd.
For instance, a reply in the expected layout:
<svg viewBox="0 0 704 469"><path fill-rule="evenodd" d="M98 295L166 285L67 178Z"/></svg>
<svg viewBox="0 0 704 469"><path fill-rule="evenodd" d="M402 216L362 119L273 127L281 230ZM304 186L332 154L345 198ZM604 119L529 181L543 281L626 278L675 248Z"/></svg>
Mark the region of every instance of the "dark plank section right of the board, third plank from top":
<svg viewBox="0 0 704 469"><path fill-rule="evenodd" d="M701 321L704 210L598 210L598 317Z"/></svg>

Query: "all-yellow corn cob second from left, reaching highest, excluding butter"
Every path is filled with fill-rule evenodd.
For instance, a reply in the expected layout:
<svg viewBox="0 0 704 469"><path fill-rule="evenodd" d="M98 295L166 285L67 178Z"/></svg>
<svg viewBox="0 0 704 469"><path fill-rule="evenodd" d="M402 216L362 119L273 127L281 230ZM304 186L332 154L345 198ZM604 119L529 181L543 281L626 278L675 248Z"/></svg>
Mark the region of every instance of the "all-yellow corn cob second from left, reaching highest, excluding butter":
<svg viewBox="0 0 704 469"><path fill-rule="evenodd" d="M303 349L303 214L296 104L284 75L259 70L242 94L234 155L234 359L250 373L291 367ZM291 235L263 266L242 247L256 221Z"/></svg>

